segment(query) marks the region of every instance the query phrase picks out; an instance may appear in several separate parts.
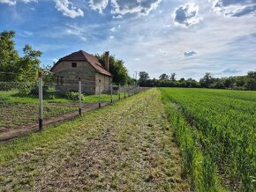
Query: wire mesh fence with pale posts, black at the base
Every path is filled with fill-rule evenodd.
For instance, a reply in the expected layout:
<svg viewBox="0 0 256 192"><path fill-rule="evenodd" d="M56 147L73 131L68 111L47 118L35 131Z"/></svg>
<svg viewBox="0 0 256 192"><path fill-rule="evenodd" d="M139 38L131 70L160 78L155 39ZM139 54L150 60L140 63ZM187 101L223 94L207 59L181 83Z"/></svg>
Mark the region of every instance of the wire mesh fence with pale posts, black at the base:
<svg viewBox="0 0 256 192"><path fill-rule="evenodd" d="M139 92L137 85L83 79L0 81L0 140L11 129L38 129L128 98L136 92Z"/></svg>

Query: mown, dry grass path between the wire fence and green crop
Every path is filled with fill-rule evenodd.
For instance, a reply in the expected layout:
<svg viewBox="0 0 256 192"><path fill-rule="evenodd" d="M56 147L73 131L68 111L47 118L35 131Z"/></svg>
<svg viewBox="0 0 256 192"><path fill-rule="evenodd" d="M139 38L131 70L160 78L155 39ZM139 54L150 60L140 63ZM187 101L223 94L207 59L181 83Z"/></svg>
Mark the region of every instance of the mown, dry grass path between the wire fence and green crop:
<svg viewBox="0 0 256 192"><path fill-rule="evenodd" d="M160 92L0 146L5 191L187 191Z"/></svg>

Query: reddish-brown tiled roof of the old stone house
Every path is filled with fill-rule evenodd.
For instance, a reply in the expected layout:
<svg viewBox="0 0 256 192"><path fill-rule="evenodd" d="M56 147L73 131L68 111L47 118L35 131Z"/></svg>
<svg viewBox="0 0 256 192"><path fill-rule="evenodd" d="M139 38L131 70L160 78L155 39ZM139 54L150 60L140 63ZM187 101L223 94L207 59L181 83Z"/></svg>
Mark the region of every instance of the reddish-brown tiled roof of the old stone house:
<svg viewBox="0 0 256 192"><path fill-rule="evenodd" d="M59 59L57 63L60 63L62 61L87 61L87 63L90 63L97 72L102 73L103 75L113 77L113 75L109 73L108 70L105 70L105 68L102 66L101 63L99 63L98 59L94 57L94 55L90 55L83 50L74 52L71 55L66 55ZM55 68L57 63L54 64L51 70Z"/></svg>

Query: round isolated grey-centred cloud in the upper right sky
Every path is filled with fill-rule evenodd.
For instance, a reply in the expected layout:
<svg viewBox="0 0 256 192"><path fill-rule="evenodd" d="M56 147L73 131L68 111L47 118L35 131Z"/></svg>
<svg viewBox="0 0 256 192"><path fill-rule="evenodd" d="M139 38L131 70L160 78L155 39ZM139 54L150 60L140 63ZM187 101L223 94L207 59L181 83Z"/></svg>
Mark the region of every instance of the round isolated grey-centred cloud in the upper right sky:
<svg viewBox="0 0 256 192"><path fill-rule="evenodd" d="M199 17L199 6L191 3L180 5L173 14L176 25L189 27L200 23L203 19Z"/></svg>

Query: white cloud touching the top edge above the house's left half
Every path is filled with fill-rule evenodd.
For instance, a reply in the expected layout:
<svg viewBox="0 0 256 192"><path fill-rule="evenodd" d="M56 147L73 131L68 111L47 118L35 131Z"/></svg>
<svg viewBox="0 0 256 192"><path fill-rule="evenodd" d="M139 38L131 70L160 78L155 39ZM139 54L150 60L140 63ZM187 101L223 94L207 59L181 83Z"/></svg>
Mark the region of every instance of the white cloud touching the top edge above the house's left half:
<svg viewBox="0 0 256 192"><path fill-rule="evenodd" d="M54 0L56 2L57 11L61 11L64 16L70 18L83 17L84 12L76 8L70 0Z"/></svg>

